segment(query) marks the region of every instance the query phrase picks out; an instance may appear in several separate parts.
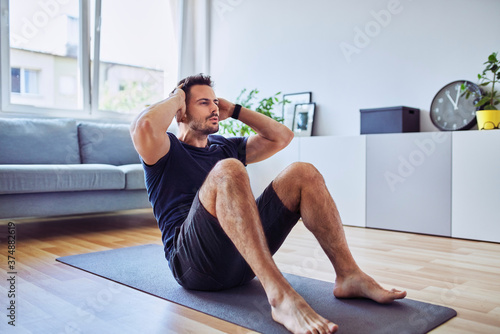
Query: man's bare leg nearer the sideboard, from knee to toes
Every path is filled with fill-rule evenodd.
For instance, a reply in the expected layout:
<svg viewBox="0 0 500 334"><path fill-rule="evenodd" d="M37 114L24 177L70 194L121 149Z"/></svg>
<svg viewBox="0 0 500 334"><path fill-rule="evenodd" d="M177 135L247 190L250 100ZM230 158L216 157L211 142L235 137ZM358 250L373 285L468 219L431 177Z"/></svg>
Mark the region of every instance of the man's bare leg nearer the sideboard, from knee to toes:
<svg viewBox="0 0 500 334"><path fill-rule="evenodd" d="M273 188L286 207L300 212L304 225L332 262L337 274L333 291L336 297L364 297L390 303L406 296L405 291L382 288L358 267L347 246L335 202L313 165L292 164L273 181Z"/></svg>

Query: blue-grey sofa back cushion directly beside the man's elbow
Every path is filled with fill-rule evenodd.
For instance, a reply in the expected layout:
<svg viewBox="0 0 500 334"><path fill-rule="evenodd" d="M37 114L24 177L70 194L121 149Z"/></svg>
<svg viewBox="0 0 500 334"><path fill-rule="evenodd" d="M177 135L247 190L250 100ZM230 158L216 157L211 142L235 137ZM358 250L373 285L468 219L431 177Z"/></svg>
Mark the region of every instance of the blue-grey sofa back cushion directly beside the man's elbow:
<svg viewBox="0 0 500 334"><path fill-rule="evenodd" d="M127 124L78 124L80 154L84 164L115 166L140 163Z"/></svg>

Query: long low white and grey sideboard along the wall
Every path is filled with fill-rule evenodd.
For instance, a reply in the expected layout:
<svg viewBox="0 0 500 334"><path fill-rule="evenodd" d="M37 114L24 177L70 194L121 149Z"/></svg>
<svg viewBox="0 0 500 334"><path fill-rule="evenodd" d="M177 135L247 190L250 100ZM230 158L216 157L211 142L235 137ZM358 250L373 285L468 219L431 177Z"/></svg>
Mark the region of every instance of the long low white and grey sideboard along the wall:
<svg viewBox="0 0 500 334"><path fill-rule="evenodd" d="M500 242L499 153L498 130L302 137L247 170L259 195L313 163L345 225Z"/></svg>

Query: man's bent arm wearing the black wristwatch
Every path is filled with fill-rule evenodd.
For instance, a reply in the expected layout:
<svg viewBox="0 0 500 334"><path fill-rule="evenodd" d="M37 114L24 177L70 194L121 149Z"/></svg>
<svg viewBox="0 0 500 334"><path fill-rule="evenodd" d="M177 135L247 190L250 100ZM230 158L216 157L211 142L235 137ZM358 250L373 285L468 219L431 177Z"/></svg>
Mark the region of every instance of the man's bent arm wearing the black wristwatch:
<svg viewBox="0 0 500 334"><path fill-rule="evenodd" d="M219 99L221 119L224 119L227 110L234 110L234 104ZM251 127L256 135L251 135L247 141L247 164L265 160L288 146L293 139L293 132L285 125L276 122L256 111L241 108L238 120Z"/></svg>

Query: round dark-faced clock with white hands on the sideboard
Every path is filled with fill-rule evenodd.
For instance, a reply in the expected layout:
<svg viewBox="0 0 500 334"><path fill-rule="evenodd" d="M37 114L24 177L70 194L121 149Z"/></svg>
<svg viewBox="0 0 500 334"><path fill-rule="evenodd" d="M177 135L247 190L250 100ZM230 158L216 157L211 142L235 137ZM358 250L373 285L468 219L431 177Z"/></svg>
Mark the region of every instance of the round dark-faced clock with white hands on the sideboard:
<svg viewBox="0 0 500 334"><path fill-rule="evenodd" d="M471 94L466 97L461 89L462 84L469 88ZM476 124L476 104L482 93L476 84L461 80L447 84L436 94L431 104L431 120L441 130L467 130Z"/></svg>

